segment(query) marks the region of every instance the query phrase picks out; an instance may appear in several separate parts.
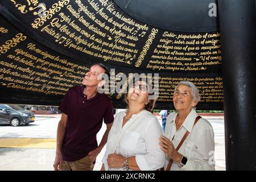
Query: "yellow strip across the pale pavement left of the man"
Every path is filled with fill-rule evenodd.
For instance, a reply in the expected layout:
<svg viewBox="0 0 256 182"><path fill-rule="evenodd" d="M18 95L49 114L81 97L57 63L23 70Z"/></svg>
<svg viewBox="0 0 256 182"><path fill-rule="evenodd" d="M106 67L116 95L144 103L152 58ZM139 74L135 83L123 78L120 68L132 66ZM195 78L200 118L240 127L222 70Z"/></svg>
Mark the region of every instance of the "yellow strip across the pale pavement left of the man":
<svg viewBox="0 0 256 182"><path fill-rule="evenodd" d="M52 138L0 138L0 147L5 148L56 148Z"/></svg>

